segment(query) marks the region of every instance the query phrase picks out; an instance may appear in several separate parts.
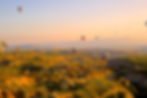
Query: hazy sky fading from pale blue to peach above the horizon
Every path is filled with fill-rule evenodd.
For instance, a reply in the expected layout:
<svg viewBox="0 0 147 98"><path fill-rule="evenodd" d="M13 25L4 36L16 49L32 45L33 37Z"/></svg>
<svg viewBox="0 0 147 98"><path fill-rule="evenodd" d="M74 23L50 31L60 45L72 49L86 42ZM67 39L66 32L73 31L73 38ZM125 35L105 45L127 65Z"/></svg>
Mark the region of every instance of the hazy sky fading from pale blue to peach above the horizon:
<svg viewBox="0 0 147 98"><path fill-rule="evenodd" d="M76 41L86 35L147 45L145 21L147 0L0 0L0 40L10 44Z"/></svg>

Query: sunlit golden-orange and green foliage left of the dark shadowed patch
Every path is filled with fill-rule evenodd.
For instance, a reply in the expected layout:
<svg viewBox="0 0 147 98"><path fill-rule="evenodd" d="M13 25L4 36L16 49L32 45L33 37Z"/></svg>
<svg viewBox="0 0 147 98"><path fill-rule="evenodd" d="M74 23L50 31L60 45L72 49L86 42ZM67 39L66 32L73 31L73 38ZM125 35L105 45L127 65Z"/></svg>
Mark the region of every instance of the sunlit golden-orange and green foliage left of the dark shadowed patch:
<svg viewBox="0 0 147 98"><path fill-rule="evenodd" d="M133 98L109 78L106 62L86 53L7 52L0 56L0 74L0 97Z"/></svg>

